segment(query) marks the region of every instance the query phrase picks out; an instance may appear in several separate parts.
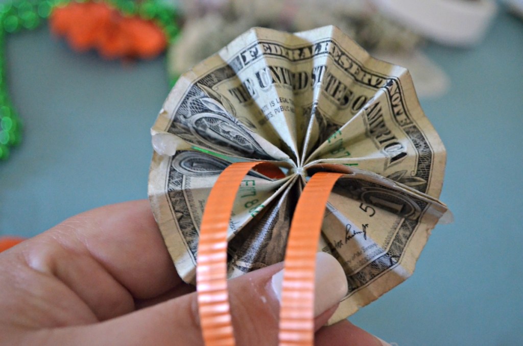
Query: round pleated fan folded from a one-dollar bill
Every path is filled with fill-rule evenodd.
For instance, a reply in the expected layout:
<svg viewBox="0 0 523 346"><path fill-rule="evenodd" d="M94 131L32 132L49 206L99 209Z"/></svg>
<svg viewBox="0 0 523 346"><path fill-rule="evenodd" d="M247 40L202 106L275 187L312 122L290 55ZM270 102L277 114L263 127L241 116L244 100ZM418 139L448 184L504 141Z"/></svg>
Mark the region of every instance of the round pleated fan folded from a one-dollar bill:
<svg viewBox="0 0 523 346"><path fill-rule="evenodd" d="M332 26L247 31L179 78L151 133L152 209L201 295L285 260L310 305L325 251L346 273L343 319L412 274L447 212L445 147L407 70Z"/></svg>

